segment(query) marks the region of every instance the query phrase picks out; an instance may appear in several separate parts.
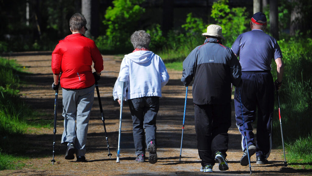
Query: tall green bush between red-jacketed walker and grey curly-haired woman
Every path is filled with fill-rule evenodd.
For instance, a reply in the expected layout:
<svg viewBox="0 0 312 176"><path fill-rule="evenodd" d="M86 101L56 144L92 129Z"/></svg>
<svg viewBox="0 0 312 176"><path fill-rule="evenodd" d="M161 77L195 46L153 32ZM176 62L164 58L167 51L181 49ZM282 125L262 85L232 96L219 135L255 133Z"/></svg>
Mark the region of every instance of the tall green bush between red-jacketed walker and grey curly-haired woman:
<svg viewBox="0 0 312 176"><path fill-rule="evenodd" d="M103 23L107 26L105 36L96 42L100 50L130 49L130 36L138 30L138 21L145 12L139 4L144 0L114 0L114 7L108 7Z"/></svg>

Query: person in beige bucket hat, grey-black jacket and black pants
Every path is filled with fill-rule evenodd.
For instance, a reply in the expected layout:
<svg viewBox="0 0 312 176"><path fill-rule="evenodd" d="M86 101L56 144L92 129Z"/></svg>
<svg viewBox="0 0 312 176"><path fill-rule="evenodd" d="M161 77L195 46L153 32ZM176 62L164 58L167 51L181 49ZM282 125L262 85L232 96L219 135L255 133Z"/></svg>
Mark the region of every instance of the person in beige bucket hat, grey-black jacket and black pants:
<svg viewBox="0 0 312 176"><path fill-rule="evenodd" d="M222 45L222 27L207 27L203 45L197 46L183 61L181 81L193 80L193 103L201 172L212 172L213 165L228 170L226 162L231 126L231 83L241 84L241 65L231 50Z"/></svg>

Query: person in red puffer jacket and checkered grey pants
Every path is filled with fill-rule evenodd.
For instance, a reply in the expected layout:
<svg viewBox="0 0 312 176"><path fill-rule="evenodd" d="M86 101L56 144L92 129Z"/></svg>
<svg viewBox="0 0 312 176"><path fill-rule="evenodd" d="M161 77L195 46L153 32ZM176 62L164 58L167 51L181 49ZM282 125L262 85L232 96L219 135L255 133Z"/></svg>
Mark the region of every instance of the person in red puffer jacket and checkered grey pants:
<svg viewBox="0 0 312 176"><path fill-rule="evenodd" d="M99 49L93 40L84 36L88 30L86 24L80 13L71 17L69 26L72 34L59 41L52 52L51 62L52 89L57 90L61 84L63 91L64 132L61 143L67 144L65 159L74 159L76 153L77 162L86 162L85 145L95 81L100 80L103 70Z"/></svg>

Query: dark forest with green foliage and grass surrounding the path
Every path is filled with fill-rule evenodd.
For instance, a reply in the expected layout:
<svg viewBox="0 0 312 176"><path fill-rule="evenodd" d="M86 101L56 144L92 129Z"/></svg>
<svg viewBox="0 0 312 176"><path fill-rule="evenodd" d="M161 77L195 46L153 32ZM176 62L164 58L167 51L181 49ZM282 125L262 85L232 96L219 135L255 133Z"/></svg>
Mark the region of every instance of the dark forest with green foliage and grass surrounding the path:
<svg viewBox="0 0 312 176"><path fill-rule="evenodd" d="M223 45L250 30L254 12L267 15L266 33L278 40L285 73L280 90L283 135L289 162L312 168L312 2L310 0L0 0L0 55L21 51L50 53L59 39L70 34L69 19L75 12L87 18L87 37L95 40L102 54L120 58L133 50L130 35L135 30L150 33L151 51L162 57L167 68L182 71L182 61L196 46L209 24L222 26ZM21 167L14 160L12 136L22 136L34 115L19 100L23 72L10 59L0 59L0 169ZM272 75L276 78L275 62ZM277 100L275 101L277 103ZM277 107L277 105L275 106ZM275 113L278 110L275 109ZM275 114L278 116L278 114ZM40 122L39 127L51 122ZM38 127L38 128L39 128ZM274 121L273 135L280 136ZM282 145L275 138L274 143ZM301 166L300 166L301 167Z"/></svg>

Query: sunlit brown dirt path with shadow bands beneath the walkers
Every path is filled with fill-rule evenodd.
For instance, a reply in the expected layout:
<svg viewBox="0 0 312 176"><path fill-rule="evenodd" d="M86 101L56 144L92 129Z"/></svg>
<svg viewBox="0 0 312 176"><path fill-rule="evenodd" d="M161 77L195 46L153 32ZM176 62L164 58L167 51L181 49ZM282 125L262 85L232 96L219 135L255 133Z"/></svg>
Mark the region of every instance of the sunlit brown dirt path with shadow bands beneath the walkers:
<svg viewBox="0 0 312 176"><path fill-rule="evenodd" d="M121 60L114 56L103 56L104 71L99 81L100 95L105 115L105 124L110 144L110 159L100 108L95 93L95 101L91 111L88 138L87 138L87 163L76 163L74 160L65 160L66 147L61 145L61 134L64 130L62 114L62 91L58 98L58 117L56 133L56 163L52 165L53 127L29 129L26 141L31 146L26 151L30 156L27 167L19 170L0 171L0 175L199 175L201 167L197 153L197 141L194 130L192 87L189 87L187 109L185 115L185 128L183 135L182 161L179 162L181 133L183 123L183 110L185 100L185 87L180 82L181 72L168 70L170 80L163 88L163 97L160 99L160 110L157 117L158 162L156 164L136 163L134 161L134 144L132 137L132 120L125 103L123 108L120 163L116 163L119 130L120 107L113 100L112 90L119 73ZM41 112L42 119L54 118L54 91L51 90L53 81L51 73L51 56L16 56L15 59L27 71L33 73L27 76L29 85L22 87L22 98L31 107ZM232 106L233 107L233 106ZM249 167L241 166L241 137L235 125L234 112L232 111L232 127L229 130L229 150L227 160L229 170L219 171L217 164L213 172L217 175L246 174ZM305 175L312 174L305 170L295 170L291 166L283 166L283 153L280 149L273 149L269 157L269 164L256 165L255 156L251 158L253 174L261 175Z"/></svg>

